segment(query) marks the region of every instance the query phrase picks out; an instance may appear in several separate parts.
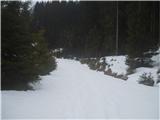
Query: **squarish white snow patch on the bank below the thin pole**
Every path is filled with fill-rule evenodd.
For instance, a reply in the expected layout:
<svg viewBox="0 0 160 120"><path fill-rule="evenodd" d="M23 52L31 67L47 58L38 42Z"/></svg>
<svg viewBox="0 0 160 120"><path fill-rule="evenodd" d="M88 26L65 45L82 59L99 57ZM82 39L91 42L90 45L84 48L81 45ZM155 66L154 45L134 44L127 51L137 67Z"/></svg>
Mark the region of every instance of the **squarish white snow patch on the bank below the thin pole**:
<svg viewBox="0 0 160 120"><path fill-rule="evenodd" d="M125 75L128 66L125 64L126 56L108 56L106 58L106 63L110 65L112 72L118 75ZM108 68L106 68L107 70Z"/></svg>

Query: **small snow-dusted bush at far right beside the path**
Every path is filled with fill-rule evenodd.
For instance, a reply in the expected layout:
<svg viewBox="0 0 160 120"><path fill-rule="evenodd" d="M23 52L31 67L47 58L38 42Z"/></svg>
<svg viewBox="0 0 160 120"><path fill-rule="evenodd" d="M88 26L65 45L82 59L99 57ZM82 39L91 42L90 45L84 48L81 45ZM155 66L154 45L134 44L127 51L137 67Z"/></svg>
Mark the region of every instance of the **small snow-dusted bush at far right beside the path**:
<svg viewBox="0 0 160 120"><path fill-rule="evenodd" d="M140 78L139 78L139 84L144 84L148 86L153 86L154 85L154 80L153 76L151 73L143 73Z"/></svg>

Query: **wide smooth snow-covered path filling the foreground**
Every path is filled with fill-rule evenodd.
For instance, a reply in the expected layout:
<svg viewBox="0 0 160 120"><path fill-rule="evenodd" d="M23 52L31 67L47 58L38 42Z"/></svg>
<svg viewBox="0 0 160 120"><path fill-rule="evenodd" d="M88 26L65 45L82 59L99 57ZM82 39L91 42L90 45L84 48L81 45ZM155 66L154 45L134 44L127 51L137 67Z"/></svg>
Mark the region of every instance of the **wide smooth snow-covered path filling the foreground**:
<svg viewBox="0 0 160 120"><path fill-rule="evenodd" d="M3 91L2 118L158 118L158 87L147 87L58 59L36 91Z"/></svg>

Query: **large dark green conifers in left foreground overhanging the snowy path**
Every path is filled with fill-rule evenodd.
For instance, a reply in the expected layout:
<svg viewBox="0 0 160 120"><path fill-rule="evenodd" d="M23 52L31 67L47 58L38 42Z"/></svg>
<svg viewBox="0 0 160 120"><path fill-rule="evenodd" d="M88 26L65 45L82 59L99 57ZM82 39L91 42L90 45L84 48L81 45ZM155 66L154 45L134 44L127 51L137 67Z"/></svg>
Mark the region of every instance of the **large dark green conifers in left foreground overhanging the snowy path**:
<svg viewBox="0 0 160 120"><path fill-rule="evenodd" d="M39 80L40 74L55 68L55 60L42 35L31 34L28 5L28 2L20 1L3 1L1 5L2 89L31 89L29 82ZM38 44L36 48L32 46L35 41Z"/></svg>

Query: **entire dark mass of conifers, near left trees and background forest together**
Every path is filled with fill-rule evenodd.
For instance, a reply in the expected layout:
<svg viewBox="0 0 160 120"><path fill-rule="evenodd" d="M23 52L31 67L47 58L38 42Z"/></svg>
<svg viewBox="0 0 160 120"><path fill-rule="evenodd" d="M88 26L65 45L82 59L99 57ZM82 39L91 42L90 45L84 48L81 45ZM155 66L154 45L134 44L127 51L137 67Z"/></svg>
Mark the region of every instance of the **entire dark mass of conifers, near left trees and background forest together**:
<svg viewBox="0 0 160 120"><path fill-rule="evenodd" d="M143 61L144 52L160 45L159 11L159 1L1 1L2 89L28 89L56 69L51 51L57 48L65 58Z"/></svg>

